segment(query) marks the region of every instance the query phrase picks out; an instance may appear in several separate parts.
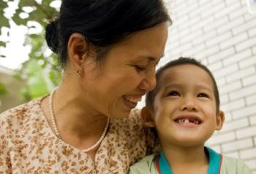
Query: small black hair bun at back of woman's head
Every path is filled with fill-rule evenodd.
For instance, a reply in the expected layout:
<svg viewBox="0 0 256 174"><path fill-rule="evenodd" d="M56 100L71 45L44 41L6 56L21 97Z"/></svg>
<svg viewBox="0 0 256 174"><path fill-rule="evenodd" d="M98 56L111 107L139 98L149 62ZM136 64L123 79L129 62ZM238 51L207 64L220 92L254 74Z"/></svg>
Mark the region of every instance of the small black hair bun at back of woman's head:
<svg viewBox="0 0 256 174"><path fill-rule="evenodd" d="M48 47L53 52L59 52L59 34L58 34L58 19L50 21L45 29L45 39Z"/></svg>

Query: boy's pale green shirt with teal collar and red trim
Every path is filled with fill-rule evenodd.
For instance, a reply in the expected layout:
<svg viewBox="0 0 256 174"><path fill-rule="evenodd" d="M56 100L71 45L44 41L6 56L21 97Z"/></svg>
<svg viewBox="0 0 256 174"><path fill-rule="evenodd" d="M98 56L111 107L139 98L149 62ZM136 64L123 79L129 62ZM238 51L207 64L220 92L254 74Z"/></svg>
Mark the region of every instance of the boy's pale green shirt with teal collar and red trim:
<svg viewBox="0 0 256 174"><path fill-rule="evenodd" d="M209 158L209 167L207 174L251 174L244 162L239 159L223 157L216 151L206 148ZM163 152L160 155L149 155L144 157L140 162L129 168L129 174L173 174L170 166L165 159Z"/></svg>

